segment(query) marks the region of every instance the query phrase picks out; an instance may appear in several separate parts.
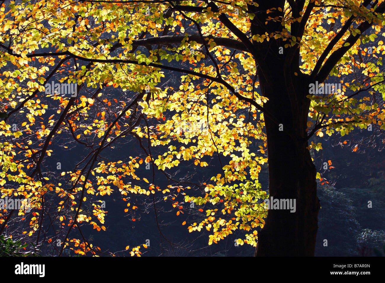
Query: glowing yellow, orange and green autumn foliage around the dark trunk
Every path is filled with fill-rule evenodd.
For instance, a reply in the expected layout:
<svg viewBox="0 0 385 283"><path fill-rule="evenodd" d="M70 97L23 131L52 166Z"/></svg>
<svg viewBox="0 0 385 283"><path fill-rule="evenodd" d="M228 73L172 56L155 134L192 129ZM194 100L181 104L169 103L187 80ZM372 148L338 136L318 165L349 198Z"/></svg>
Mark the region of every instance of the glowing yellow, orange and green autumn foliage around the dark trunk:
<svg viewBox="0 0 385 283"><path fill-rule="evenodd" d="M237 243L255 246L256 228L263 227L266 216L262 200L267 195L258 181L267 162L264 115L238 99L229 86L258 105L268 100L259 93L258 68L251 53L244 48L233 50L214 40L214 37L239 40L218 20L220 13L254 45L276 47L279 42L285 54L299 50L300 69L293 72L293 77L310 75L320 58L322 65L331 53L350 47L339 57L328 77L341 83L341 89L308 96L309 133L320 138L336 132L345 136L354 128L363 129L368 124L385 129L384 105L378 100L380 97L377 100L375 97L380 95L385 99L382 68L385 46L380 40L383 15L375 15L373 8L362 7L356 0L345 1L344 5L331 1L325 10L318 7L319 2L312 8L301 37L293 35L291 28L302 22L311 1L305 2L303 11L298 11L301 15L298 18L293 17L289 2L283 7L252 13L249 8L258 5L251 1L218 2L218 11L211 7L201 12L185 11L187 17L201 24L205 44L192 37L191 33L196 33L195 23L182 13L174 10L165 15L172 8L168 2L38 1L35 5L22 2L2 7L0 110L4 117L10 111L18 111L7 122L0 122L0 136L4 138L0 144L0 186L2 194L17 194L32 200L35 215L27 219L30 230L23 231L24 234L32 236L39 229L45 194L60 199L55 204L60 215L53 221L61 228L73 227L75 222L91 225L97 231L105 229L102 224L107 211L102 198L119 195L127 202L124 213L132 213L139 208L129 202L130 196L151 198L159 194L162 199L172 200L173 209L181 217L184 208L177 200L181 195L186 203L199 206L202 213L203 220L188 224L189 231L203 228L210 231L208 242L212 244L235 229L242 229L247 234ZM180 5L199 8L205 4L187 1ZM261 12L267 15L265 25L278 22L282 30L253 34L252 21ZM351 16L354 17L351 25L330 52L321 57ZM372 26L362 32L359 25L364 20ZM138 45L140 40L164 36L165 26L168 29L165 34L181 36L180 42L165 42L159 47L158 42ZM351 36L357 36L356 42L346 42ZM276 56L279 55L282 54L277 50ZM174 66L175 62L195 73L173 72L177 85L166 85L165 70L160 67ZM346 79L353 75L354 79ZM202 76L218 77L226 84ZM55 88L49 92L46 84L51 84L51 80L76 85L80 92L75 96ZM352 95L364 89L368 94ZM121 92L121 97L114 97L111 90ZM306 93L306 85L303 91ZM143 93L143 97L137 105L125 109L138 93ZM121 114L121 119L117 119ZM141 121L131 128L138 115L146 123ZM149 149L159 154L150 156L146 152L145 156L125 160L120 160L117 154L117 160L97 159L92 166L87 159L84 167L87 170L63 167L39 176L36 169L33 178L29 176L37 168L40 156L56 158L51 148L55 142L64 142L66 152L83 146L92 157L98 146L103 144L103 150L112 149L116 141L128 136L144 144L148 142ZM46 142L49 148L43 152ZM319 151L322 144L311 142L309 149ZM141 175L148 164L154 166L156 174L159 171L172 174L180 166L204 171L217 158L226 161L217 174L205 176L206 183L200 184L204 189L202 196L187 196L181 185L160 188L151 183L154 182L151 177ZM319 174L317 178L321 178ZM208 209L206 204L215 208ZM92 210L85 212L85 206ZM65 217L65 213L73 217L76 214L76 218ZM137 221L134 216L130 219ZM186 221L182 222L185 224ZM92 250L91 244L78 239L66 239L64 246L70 246L79 255ZM131 249L130 254L141 255L139 248Z"/></svg>

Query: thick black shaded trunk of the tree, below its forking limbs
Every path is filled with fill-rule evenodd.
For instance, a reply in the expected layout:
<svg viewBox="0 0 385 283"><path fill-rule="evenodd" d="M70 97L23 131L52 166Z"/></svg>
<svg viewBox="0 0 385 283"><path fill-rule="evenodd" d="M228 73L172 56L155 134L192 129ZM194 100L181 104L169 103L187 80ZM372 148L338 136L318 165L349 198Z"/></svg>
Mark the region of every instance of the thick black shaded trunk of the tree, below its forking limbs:
<svg viewBox="0 0 385 283"><path fill-rule="evenodd" d="M297 93L290 93L283 71L277 71L272 82L260 77L262 95L269 99L264 107L280 123L277 125L277 121L265 115L269 196L295 199L296 206L295 212L269 209L265 226L258 233L255 256L314 256L315 252L320 203L316 195L316 168L306 148L310 102L306 98L308 90L303 78L295 79L293 87ZM290 95L295 95L298 100L297 109L293 109Z"/></svg>

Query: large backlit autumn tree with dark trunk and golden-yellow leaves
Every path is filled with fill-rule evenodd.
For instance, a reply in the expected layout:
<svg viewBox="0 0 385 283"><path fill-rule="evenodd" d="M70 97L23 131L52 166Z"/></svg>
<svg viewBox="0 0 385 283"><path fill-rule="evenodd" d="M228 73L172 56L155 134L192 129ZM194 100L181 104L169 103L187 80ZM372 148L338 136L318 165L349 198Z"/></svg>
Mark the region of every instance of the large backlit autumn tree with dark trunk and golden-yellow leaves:
<svg viewBox="0 0 385 283"><path fill-rule="evenodd" d="M82 222L105 229L102 206L94 200L94 217L82 209L114 187L124 201L159 191L206 204L207 218L188 229L205 226L209 244L244 229L250 232L238 242L255 246L257 256L313 256L321 176L310 150L322 146L309 140L384 128L384 11L382 0L3 3L2 193L31 200L25 233L36 243L46 221L68 226L59 255L65 246L97 252L69 235L72 228L82 235ZM167 82L176 75L179 89ZM146 157L102 158L126 136ZM54 140L84 147L84 159L60 174L48 168ZM206 182L170 173L182 160L199 168L214 156L221 171ZM268 194L258 181L265 162ZM147 185L136 174L146 163L154 165ZM156 171L168 188L156 185ZM204 196L188 196L190 186ZM268 195L295 199L295 212L267 215ZM2 231L13 211L2 215Z"/></svg>

